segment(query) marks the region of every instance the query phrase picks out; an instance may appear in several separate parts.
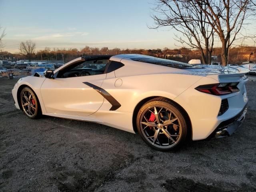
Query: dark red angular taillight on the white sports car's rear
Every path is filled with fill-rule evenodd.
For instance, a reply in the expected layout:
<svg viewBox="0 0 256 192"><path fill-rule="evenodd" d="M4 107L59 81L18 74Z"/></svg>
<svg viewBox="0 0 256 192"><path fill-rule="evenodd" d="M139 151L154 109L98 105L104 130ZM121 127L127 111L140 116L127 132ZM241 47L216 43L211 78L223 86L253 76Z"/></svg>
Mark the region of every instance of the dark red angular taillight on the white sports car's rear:
<svg viewBox="0 0 256 192"><path fill-rule="evenodd" d="M212 95L225 95L225 94L238 92L239 91L239 89L237 88L238 84L239 82L208 84L208 85L200 85L195 89L200 92L204 92Z"/></svg>

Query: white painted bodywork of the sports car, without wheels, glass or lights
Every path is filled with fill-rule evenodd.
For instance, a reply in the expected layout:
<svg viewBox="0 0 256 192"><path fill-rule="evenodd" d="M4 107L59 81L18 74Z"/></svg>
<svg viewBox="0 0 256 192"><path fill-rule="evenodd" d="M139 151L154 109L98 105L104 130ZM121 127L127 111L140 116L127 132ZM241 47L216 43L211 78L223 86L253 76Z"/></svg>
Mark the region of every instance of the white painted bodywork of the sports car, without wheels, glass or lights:
<svg viewBox="0 0 256 192"><path fill-rule="evenodd" d="M110 60L122 62L124 66L108 74L55 79L22 78L12 90L15 106L19 108L18 88L27 85L36 93L45 115L98 122L134 133L132 117L136 105L145 98L161 96L173 100L186 110L192 124L192 139L201 140L207 138L220 122L236 116L248 102L244 99L244 84L247 80L241 73L184 70L130 60L136 56L112 56ZM65 64L54 73L80 59ZM106 90L121 104L120 108L111 111L110 102L83 82ZM240 92L215 96L194 89L203 84L219 82L240 82ZM228 99L229 109L218 116L224 98Z"/></svg>

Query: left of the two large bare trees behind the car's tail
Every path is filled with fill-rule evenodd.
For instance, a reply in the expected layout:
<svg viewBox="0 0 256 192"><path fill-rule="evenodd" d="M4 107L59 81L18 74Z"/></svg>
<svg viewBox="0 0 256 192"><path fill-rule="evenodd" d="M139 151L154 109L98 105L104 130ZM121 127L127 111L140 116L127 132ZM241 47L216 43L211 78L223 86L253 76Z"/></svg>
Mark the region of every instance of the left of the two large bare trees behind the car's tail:
<svg viewBox="0 0 256 192"><path fill-rule="evenodd" d="M198 2L199 3L199 2ZM211 55L214 45L214 30L206 22L207 17L203 9L193 0L157 0L152 16L154 26L160 28L170 26L181 34L174 34L175 40L182 44L182 47L189 46L200 50L202 62L211 62Z"/></svg>

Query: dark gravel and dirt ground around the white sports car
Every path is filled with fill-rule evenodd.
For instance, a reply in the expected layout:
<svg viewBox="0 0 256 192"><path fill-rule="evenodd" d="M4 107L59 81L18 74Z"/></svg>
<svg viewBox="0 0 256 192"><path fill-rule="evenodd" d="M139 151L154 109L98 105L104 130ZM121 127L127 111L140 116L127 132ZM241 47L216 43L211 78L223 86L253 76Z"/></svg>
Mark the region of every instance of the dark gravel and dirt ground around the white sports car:
<svg viewBox="0 0 256 192"><path fill-rule="evenodd" d="M232 136L158 152L108 126L26 118L12 100L17 80L0 78L0 191L256 191L255 81Z"/></svg>

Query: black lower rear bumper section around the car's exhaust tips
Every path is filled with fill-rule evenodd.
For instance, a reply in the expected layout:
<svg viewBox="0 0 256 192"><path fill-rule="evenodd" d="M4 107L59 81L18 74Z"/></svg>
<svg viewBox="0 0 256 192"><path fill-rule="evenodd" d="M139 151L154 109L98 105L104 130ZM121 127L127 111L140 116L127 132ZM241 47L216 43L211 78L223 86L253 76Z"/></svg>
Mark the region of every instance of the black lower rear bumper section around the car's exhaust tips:
<svg viewBox="0 0 256 192"><path fill-rule="evenodd" d="M208 139L210 138L222 138L226 136L230 136L235 132L235 130L240 127L242 122L244 121L245 115L247 112L246 106L244 109L234 116L233 118L230 118L226 121L223 121L220 123L220 125L208 136Z"/></svg>

